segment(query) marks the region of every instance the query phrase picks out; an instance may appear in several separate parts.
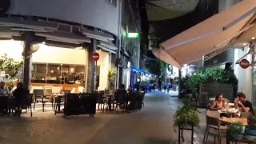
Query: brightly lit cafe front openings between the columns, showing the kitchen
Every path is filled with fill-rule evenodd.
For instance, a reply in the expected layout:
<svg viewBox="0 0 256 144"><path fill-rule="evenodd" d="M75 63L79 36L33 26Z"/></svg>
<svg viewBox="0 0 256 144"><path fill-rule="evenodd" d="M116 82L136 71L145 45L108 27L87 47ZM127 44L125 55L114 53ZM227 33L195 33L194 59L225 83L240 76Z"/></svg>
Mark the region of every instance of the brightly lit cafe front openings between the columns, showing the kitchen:
<svg viewBox="0 0 256 144"><path fill-rule="evenodd" d="M14 62L22 62L24 42L14 40L0 40L0 56L6 55ZM107 88L107 73L110 69L110 53L97 51L100 54L97 66L98 90ZM33 51L31 66L31 86L86 86L86 50L77 48L62 48L38 44ZM22 66L16 76L8 77L8 70L1 68L2 79L5 82L17 82L22 79ZM4 73L5 72L5 73ZM3 75L5 74L5 75ZM9 74L10 75L10 74Z"/></svg>

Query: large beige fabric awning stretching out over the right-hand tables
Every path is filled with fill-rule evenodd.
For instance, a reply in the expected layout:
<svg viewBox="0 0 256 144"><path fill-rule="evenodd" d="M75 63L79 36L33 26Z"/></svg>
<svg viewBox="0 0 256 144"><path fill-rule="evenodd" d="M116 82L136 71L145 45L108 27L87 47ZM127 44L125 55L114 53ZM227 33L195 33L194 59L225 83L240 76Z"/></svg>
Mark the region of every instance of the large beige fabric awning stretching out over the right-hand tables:
<svg viewBox="0 0 256 144"><path fill-rule="evenodd" d="M181 34L170 38L153 53L162 61L182 68L202 56L228 46L238 35L253 26L256 0L244 0L215 14Z"/></svg>

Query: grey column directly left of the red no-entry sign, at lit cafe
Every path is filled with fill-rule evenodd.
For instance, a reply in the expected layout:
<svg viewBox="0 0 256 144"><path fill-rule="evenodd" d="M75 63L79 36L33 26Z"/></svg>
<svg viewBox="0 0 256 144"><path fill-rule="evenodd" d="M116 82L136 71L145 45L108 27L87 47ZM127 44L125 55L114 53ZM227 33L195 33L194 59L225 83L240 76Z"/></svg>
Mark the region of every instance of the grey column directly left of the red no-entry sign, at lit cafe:
<svg viewBox="0 0 256 144"><path fill-rule="evenodd" d="M96 66L95 62L92 60L93 54L96 52L97 48L97 41L96 39L91 38L90 40L90 48L87 50L88 57L88 68L87 68L87 92L91 93L95 89L95 72L96 72Z"/></svg>

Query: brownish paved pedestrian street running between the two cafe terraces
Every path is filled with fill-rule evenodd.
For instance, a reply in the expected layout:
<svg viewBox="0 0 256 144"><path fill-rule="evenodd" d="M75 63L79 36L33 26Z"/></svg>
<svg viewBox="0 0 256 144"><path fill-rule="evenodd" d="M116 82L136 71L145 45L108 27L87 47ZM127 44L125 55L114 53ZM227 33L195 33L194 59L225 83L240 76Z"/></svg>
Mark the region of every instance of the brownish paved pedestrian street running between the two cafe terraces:
<svg viewBox="0 0 256 144"><path fill-rule="evenodd" d="M174 94L174 93L171 93ZM178 143L178 135L173 130L173 115L181 104L170 94L152 92L146 94L145 108L129 114L98 112L94 118L72 116L62 118L51 110L34 113L33 118L0 118L1 144L172 144ZM203 111L203 110L202 110ZM202 112L202 114L204 114ZM196 142L202 143L205 120ZM190 143L190 133L185 133Z"/></svg>

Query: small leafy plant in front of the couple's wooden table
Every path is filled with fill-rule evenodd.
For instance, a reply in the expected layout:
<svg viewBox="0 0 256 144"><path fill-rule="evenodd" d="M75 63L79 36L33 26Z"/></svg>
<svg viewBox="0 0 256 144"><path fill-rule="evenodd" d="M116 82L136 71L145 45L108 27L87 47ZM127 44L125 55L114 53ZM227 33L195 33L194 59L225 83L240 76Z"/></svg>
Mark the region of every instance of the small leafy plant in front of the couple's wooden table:
<svg viewBox="0 0 256 144"><path fill-rule="evenodd" d="M230 139L242 139L243 126L242 122L234 122L227 127L227 136Z"/></svg>

